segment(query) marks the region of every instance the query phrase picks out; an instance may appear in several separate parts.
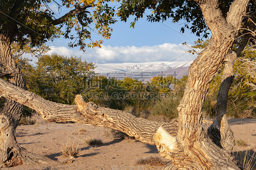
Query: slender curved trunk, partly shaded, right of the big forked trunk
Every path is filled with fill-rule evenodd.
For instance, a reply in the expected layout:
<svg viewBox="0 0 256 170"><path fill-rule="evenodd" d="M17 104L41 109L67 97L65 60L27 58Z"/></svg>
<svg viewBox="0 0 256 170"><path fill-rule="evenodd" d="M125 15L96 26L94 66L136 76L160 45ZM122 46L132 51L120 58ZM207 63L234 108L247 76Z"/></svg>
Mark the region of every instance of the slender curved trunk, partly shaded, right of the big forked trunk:
<svg viewBox="0 0 256 170"><path fill-rule="evenodd" d="M226 116L228 91L234 81L233 63L237 59L237 57L239 57L243 49L246 47L248 41L249 39L244 40L244 42L238 47L234 54L230 53L225 57L225 67L222 71L223 75L221 79L219 93L217 96L217 103L215 104L215 113L221 135L220 144L222 148L224 148L228 152L232 152L235 145L235 137L232 130L230 129Z"/></svg>

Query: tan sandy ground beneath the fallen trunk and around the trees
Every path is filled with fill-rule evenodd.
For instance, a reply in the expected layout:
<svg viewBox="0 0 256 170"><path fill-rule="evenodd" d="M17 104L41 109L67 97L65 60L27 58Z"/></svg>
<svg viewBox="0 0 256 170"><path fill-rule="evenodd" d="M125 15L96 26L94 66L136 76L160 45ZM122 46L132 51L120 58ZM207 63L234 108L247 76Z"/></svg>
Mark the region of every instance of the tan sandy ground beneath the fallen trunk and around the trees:
<svg viewBox="0 0 256 170"><path fill-rule="evenodd" d="M229 119L235 139L242 139L247 143L246 147L235 146L234 154L237 159L249 148L250 154L255 152L256 146L256 119ZM86 129L84 134L80 129ZM107 136L108 129L103 127L88 126L84 124L37 124L24 125L17 128L17 141L28 151L48 156L56 160L55 164L20 165L12 170L50 170L50 169L78 169L78 170L160 170L163 166L137 165L136 161L150 156L159 156L155 145L143 144L134 139L113 140ZM84 137L100 138L103 142L96 150L83 144ZM73 163L64 163L69 158L61 156L62 144L67 140L79 144L81 153L73 160ZM241 157L241 156L240 156ZM163 161L168 161L163 158ZM256 169L256 167L255 167Z"/></svg>

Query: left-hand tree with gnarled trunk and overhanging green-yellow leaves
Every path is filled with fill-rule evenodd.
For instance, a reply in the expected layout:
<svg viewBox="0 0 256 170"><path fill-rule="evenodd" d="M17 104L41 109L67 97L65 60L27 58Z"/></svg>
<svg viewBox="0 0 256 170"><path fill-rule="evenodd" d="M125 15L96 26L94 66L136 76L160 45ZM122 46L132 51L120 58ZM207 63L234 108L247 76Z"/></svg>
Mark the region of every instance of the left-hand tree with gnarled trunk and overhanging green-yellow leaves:
<svg viewBox="0 0 256 170"><path fill-rule="evenodd" d="M62 0L62 4L56 3L60 8L68 8L69 11L55 18L54 12L49 8L50 0L3 0L0 2L0 64L1 78L8 82L27 89L25 79L20 68L12 56L11 45L18 42L22 48L28 39L31 46L40 46L46 40L52 40L59 35L70 38L70 47L80 46L84 50L88 47L100 47L102 40L91 39L90 24L94 22L95 29L103 38L109 38L112 29L110 24L115 23L111 7L95 4L94 1L69 1ZM95 7L94 7L95 6ZM91 14L87 9L94 7ZM65 30L64 30L65 29ZM64 30L64 31L62 31ZM70 35L71 30L76 34ZM86 39L90 41L87 43ZM73 42L72 42L73 41ZM6 100L0 114L0 167L15 166L37 162L52 162L52 160L29 153L16 142L15 130L22 116L24 106Z"/></svg>

